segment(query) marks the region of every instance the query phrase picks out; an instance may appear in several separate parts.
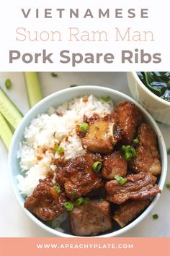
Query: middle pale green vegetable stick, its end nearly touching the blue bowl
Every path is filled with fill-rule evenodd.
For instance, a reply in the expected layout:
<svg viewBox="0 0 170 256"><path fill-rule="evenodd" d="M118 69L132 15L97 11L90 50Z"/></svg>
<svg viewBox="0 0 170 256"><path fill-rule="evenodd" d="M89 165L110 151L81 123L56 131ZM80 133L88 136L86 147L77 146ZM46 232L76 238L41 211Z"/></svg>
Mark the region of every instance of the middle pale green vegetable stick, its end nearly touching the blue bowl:
<svg viewBox="0 0 170 256"><path fill-rule="evenodd" d="M19 111L17 106L12 103L9 97L4 93L4 90L0 88L0 111L5 117L9 124L12 125L14 129L17 128L19 121L22 120L22 113Z"/></svg>

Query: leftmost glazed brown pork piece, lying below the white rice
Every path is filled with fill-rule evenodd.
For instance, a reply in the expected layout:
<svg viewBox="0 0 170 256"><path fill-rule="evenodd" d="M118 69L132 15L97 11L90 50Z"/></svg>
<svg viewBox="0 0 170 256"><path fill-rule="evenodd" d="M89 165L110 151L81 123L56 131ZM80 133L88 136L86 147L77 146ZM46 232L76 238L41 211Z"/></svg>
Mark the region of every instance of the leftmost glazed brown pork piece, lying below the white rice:
<svg viewBox="0 0 170 256"><path fill-rule="evenodd" d="M32 195L27 197L24 207L34 213L42 221L49 221L57 218L64 212L63 206L66 201L63 192L58 193L49 179L40 179Z"/></svg>

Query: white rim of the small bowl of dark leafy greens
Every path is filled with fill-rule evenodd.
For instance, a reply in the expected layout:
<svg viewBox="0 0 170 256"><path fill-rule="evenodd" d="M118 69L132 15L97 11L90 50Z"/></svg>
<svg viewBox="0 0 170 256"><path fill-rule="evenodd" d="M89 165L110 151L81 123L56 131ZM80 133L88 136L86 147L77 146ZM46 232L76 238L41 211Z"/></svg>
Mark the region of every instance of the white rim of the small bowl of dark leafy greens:
<svg viewBox="0 0 170 256"><path fill-rule="evenodd" d="M136 72L130 72L130 73L133 74L133 78L138 82L138 85L140 86L140 88L145 90L145 92L148 93L149 95L151 95L152 98L154 98L156 101L159 101L160 103L164 103L164 105L166 105L166 106L170 106L169 101L163 100L162 98L160 98L157 95L155 95L154 93L152 93L151 90L149 90L146 87L146 85L143 84L143 82L140 80L140 78L138 77L138 74Z"/></svg>

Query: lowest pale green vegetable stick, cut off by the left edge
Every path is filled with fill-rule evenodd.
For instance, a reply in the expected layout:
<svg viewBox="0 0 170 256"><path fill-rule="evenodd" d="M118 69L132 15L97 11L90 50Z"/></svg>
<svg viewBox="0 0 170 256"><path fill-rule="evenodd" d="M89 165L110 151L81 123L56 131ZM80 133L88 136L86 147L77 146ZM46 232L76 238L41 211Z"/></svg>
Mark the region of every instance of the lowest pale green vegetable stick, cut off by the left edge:
<svg viewBox="0 0 170 256"><path fill-rule="evenodd" d="M0 112L0 137L4 141L6 148L9 150L9 146L12 140L12 130L4 119L4 116Z"/></svg>

